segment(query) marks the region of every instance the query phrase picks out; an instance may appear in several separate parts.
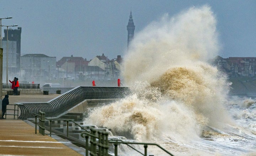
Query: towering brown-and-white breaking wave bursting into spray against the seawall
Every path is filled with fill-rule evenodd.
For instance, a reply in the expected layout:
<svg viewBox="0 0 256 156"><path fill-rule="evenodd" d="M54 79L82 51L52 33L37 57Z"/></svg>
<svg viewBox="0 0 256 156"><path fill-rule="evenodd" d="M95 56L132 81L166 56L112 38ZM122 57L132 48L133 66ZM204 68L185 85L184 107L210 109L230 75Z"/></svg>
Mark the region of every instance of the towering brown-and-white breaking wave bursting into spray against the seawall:
<svg viewBox="0 0 256 156"><path fill-rule="evenodd" d="M225 109L230 84L207 63L219 49L209 6L164 15L136 34L124 57L122 83L133 94L95 108L86 122L179 152L188 148L183 143L222 134L234 124Z"/></svg>

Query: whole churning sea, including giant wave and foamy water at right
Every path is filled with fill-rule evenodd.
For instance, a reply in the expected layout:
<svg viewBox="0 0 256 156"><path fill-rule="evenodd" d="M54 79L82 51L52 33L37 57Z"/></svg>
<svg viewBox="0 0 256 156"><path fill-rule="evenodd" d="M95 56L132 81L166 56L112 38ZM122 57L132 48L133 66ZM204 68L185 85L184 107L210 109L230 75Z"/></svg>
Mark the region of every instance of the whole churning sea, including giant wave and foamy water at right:
<svg viewBox="0 0 256 156"><path fill-rule="evenodd" d="M231 95L228 75L209 61L223 46L216 19L208 5L191 7L136 33L121 76L132 93L92 109L85 123L175 156L255 156L256 95ZM169 154L149 145L148 155Z"/></svg>

